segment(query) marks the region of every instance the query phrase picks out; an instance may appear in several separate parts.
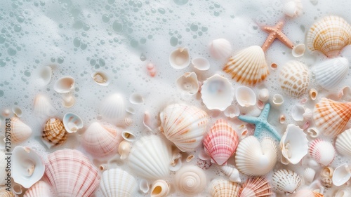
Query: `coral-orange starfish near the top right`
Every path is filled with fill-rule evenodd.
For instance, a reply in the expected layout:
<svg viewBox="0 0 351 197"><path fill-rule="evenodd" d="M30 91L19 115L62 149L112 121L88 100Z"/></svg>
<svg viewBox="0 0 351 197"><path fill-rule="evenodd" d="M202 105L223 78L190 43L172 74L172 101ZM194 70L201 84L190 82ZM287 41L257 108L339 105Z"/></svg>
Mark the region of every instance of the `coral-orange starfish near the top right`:
<svg viewBox="0 0 351 197"><path fill-rule="evenodd" d="M275 39L279 39L279 41L284 43L287 47L293 48L293 42L290 41L288 37L286 37L286 35L282 32L283 25L284 22L281 20L274 27L263 27L263 30L269 33L267 39L265 40L265 43L263 43L263 51L266 51Z"/></svg>

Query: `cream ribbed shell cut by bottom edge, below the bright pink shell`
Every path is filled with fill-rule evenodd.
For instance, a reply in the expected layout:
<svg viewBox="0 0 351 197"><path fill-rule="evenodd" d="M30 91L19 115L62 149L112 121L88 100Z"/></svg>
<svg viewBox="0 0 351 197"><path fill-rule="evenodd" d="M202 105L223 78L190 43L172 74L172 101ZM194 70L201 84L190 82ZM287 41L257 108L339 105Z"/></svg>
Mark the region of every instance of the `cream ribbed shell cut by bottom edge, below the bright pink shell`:
<svg viewBox="0 0 351 197"><path fill-rule="evenodd" d="M212 197L239 197L240 186L225 179L213 179L210 183Z"/></svg>

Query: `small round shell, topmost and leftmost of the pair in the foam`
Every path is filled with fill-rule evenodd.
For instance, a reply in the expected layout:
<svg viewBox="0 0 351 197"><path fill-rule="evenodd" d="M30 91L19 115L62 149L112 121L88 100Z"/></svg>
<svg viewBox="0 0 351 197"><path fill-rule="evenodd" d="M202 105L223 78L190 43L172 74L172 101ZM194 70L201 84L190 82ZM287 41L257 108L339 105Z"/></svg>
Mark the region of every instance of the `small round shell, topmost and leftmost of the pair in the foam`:
<svg viewBox="0 0 351 197"><path fill-rule="evenodd" d="M190 54L188 48L177 48L169 55L169 63L173 69L184 69L190 64Z"/></svg>

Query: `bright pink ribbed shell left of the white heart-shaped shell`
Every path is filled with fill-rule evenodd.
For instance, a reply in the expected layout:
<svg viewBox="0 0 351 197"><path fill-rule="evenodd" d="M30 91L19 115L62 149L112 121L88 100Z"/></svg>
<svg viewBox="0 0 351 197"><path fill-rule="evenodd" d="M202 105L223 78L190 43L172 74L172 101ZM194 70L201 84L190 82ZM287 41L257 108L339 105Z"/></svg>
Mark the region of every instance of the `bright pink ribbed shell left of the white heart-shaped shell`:
<svg viewBox="0 0 351 197"><path fill-rule="evenodd" d="M204 138L204 148L218 165L223 165L232 156L239 144L239 137L230 124L219 119Z"/></svg>

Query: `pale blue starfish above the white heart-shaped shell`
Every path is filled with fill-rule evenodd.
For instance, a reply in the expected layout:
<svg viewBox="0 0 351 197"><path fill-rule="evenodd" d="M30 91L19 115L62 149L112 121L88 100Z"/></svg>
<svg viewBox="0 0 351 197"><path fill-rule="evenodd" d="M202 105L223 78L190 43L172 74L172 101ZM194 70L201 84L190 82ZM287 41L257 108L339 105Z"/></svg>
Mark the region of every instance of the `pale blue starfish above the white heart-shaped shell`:
<svg viewBox="0 0 351 197"><path fill-rule="evenodd" d="M268 132L270 132L272 135L274 135L274 137L280 142L279 133L277 133L277 130L275 130L274 127L267 122L268 114L270 114L269 103L265 104L265 107L263 108L260 116L258 117L238 116L238 118L240 121L244 121L246 123L251 123L256 125L255 133L254 133L256 137L258 137L258 135L260 135L263 129L265 129Z"/></svg>

